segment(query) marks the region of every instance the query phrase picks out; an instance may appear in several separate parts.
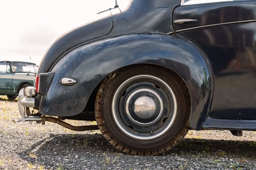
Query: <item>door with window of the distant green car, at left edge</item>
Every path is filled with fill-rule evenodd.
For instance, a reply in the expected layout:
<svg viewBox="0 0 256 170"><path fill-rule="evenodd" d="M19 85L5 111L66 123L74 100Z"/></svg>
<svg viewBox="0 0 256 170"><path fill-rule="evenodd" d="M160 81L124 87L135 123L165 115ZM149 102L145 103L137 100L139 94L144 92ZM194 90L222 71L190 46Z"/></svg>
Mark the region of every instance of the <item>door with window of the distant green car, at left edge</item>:
<svg viewBox="0 0 256 170"><path fill-rule="evenodd" d="M13 73L10 71L10 63L0 62L0 94L11 93L12 78Z"/></svg>

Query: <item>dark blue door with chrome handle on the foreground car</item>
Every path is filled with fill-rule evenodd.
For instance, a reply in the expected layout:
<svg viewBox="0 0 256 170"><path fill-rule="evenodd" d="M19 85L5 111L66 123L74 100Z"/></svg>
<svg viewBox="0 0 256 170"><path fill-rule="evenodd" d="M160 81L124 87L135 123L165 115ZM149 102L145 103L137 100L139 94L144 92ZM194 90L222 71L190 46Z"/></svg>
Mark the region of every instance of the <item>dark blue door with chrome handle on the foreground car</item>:
<svg viewBox="0 0 256 170"><path fill-rule="evenodd" d="M256 120L256 1L182 0L173 27L211 63L211 117Z"/></svg>

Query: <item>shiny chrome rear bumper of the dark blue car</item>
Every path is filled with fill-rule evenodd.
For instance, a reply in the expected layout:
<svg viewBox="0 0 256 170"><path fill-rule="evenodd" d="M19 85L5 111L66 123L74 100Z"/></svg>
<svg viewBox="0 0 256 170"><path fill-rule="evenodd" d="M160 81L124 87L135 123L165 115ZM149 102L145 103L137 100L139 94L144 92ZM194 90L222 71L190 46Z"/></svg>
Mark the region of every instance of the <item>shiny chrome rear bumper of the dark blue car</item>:
<svg viewBox="0 0 256 170"><path fill-rule="evenodd" d="M29 116L30 114L30 113L28 114L29 107L35 107L34 91L35 91L35 88L32 86L20 89L19 97L18 97L18 107L19 107L20 116L22 118ZM28 95L29 97L27 97Z"/></svg>

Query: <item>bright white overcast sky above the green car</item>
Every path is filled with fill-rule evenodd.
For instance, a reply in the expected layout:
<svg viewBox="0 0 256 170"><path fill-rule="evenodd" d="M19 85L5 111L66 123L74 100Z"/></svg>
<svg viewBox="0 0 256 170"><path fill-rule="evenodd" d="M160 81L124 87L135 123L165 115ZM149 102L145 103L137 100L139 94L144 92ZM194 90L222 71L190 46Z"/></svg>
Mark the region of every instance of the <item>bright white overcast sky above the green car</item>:
<svg viewBox="0 0 256 170"><path fill-rule="evenodd" d="M113 6L115 0L2 0L0 61L39 65L55 38Z"/></svg>

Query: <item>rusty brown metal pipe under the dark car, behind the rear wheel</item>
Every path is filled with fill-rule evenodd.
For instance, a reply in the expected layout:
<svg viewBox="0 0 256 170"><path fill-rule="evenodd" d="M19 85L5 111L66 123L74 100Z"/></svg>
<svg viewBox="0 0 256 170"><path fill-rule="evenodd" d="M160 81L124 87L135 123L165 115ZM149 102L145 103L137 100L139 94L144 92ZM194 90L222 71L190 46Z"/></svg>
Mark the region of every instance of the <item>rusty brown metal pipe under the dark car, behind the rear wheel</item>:
<svg viewBox="0 0 256 170"><path fill-rule="evenodd" d="M99 130L99 127L97 125L87 125L87 126L77 126L76 127L76 126L68 124L65 121L59 120L59 119L51 117L51 116L42 116L42 125L45 125L45 121L57 123L58 125L61 125L62 127L65 127L65 128L68 128L68 129L74 130L74 131Z"/></svg>

